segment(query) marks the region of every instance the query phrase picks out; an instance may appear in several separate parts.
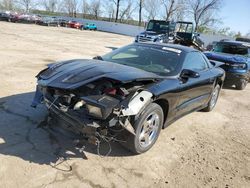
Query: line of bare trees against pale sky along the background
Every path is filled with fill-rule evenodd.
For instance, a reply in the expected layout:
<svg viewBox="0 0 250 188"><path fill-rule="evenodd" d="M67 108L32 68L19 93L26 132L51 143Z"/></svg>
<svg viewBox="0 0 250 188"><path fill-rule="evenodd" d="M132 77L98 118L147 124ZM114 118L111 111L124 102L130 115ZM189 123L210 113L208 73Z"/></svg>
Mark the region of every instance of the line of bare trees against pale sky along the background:
<svg viewBox="0 0 250 188"><path fill-rule="evenodd" d="M143 26L150 19L189 20L198 32L213 32L220 24L218 12L223 0L0 0L0 9L44 10L65 13L71 17L102 19ZM230 33L230 28L216 30Z"/></svg>

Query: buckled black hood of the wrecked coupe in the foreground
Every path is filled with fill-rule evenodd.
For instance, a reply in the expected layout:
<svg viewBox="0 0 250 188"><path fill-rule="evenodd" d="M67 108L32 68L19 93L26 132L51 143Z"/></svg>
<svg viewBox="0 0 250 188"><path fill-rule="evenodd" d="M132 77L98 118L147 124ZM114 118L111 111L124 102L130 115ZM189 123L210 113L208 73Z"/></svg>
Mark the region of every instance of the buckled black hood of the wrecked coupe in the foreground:
<svg viewBox="0 0 250 188"><path fill-rule="evenodd" d="M101 78L120 82L154 80L160 76L134 67L99 60L70 60L50 66L38 74L38 84L75 89Z"/></svg>

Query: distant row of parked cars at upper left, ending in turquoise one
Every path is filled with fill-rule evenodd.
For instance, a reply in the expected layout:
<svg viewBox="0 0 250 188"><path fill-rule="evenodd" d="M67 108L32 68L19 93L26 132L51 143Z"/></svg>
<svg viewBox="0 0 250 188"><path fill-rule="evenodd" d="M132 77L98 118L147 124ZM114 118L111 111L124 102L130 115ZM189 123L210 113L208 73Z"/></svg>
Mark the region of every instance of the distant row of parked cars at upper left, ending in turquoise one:
<svg viewBox="0 0 250 188"><path fill-rule="evenodd" d="M77 21L69 21L60 17L40 16L34 14L4 12L0 13L0 21L38 24L42 26L68 27L81 30L97 30L97 26L94 23L82 24Z"/></svg>

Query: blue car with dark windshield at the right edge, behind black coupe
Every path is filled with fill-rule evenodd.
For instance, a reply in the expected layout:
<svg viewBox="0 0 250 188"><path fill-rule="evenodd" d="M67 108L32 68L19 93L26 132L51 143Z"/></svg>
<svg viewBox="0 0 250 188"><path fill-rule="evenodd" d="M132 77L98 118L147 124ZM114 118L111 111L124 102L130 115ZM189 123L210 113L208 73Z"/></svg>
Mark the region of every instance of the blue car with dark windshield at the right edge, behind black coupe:
<svg viewBox="0 0 250 188"><path fill-rule="evenodd" d="M210 60L220 61L226 72L225 86L243 90L250 78L250 43L238 41L218 42L211 52L205 52Z"/></svg>

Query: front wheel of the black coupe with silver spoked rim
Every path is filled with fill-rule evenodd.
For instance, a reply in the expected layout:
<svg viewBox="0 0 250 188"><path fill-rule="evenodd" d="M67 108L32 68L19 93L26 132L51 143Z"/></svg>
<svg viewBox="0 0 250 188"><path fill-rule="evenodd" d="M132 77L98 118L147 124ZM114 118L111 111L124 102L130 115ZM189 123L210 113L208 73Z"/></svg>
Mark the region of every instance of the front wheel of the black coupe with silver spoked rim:
<svg viewBox="0 0 250 188"><path fill-rule="evenodd" d="M153 116L157 118L154 119ZM149 121L149 118L153 119L153 122L154 122L153 124L158 124L158 125L154 126L154 125L146 124L146 127L148 127L146 128L145 121ZM132 151L135 154L141 154L141 153L148 151L155 144L156 140L159 137L160 131L163 127L163 120L164 120L164 115L163 115L162 108L158 104L155 104L155 103L149 104L147 108L140 114L140 116L134 122L133 127L135 129L136 135L129 134L126 139L126 142L123 143L123 146L125 146L128 150ZM147 129L148 132L151 132L151 131L152 132L146 133L144 129ZM142 132L145 132L145 134L142 134ZM143 137L145 139L145 146L143 146L141 142L141 140L143 139L141 138L140 140L140 136L147 135L147 134L150 135L148 136L148 139L150 142L148 143L148 145L146 145L146 137ZM152 138L152 140L150 140L150 138Z"/></svg>

